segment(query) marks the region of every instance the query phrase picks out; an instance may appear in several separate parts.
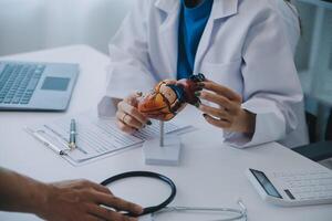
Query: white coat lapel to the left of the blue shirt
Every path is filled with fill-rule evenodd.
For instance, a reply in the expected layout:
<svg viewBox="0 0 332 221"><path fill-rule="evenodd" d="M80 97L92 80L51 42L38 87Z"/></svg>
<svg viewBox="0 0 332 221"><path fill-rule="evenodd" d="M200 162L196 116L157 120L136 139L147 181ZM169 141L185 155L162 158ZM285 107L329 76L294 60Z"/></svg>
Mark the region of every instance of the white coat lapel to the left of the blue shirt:
<svg viewBox="0 0 332 221"><path fill-rule="evenodd" d="M158 0L155 7L166 13L166 19L159 27L160 55L166 57L168 77L176 78L178 54L179 0Z"/></svg>

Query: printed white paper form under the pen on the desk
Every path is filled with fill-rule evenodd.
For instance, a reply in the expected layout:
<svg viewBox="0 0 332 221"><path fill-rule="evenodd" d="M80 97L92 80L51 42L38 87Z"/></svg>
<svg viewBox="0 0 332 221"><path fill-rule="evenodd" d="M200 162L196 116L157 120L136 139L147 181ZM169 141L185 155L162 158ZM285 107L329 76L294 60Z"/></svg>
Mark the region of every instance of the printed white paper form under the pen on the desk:
<svg viewBox="0 0 332 221"><path fill-rule="evenodd" d="M73 117L72 117L73 118ZM153 120L134 135L121 131L115 118L103 119L92 115L75 116L76 122L76 148L68 150L71 118L59 119L49 124L27 127L27 131L41 140L44 145L59 149L73 165L80 165L89 160L116 152L129 147L136 147L143 141L159 136L159 123ZM188 125L174 123L165 124L165 133L180 133L190 128Z"/></svg>

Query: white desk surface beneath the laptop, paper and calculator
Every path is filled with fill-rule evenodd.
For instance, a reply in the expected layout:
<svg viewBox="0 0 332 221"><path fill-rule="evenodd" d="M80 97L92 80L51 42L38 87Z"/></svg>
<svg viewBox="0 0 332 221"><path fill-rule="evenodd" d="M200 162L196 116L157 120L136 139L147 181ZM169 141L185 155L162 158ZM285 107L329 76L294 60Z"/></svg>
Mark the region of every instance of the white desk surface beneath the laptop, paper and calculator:
<svg viewBox="0 0 332 221"><path fill-rule="evenodd" d="M197 119L195 125L200 128L181 136L184 151L179 167L145 166L139 148L82 167L71 166L23 131L22 128L28 124L52 120L55 117L96 106L105 88L107 56L89 46L75 45L14 55L10 59L79 62L82 70L66 113L0 113L0 166L43 181L86 178L100 182L117 172L152 170L162 172L176 182L178 193L174 204L237 208L236 199L241 197L248 208L249 221L331 221L332 206L279 208L264 203L243 175L248 167L289 170L290 168L318 169L321 166L278 144L267 144L245 150L222 145L219 131L205 124L201 115L195 108L187 108L179 116L186 120L191 119L191 123L193 119ZM164 194L158 188L152 190L151 194L146 194L144 199L139 198L142 201L136 199L136 202L144 204L158 200L160 194ZM126 192L121 187L116 191ZM176 213L169 213L157 220L207 220L203 218L197 214L178 217ZM0 212L0 220L30 221L38 220L38 218L31 214Z"/></svg>

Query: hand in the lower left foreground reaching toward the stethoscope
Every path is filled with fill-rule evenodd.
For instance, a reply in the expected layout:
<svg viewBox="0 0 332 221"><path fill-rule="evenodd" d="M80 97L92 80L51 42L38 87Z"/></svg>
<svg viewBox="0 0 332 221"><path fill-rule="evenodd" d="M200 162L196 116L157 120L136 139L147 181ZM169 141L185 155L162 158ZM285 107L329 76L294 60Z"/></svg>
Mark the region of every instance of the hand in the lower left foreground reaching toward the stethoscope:
<svg viewBox="0 0 332 221"><path fill-rule="evenodd" d="M39 217L49 221L137 221L116 211L139 214L139 206L124 201L101 185L87 180L49 185Z"/></svg>

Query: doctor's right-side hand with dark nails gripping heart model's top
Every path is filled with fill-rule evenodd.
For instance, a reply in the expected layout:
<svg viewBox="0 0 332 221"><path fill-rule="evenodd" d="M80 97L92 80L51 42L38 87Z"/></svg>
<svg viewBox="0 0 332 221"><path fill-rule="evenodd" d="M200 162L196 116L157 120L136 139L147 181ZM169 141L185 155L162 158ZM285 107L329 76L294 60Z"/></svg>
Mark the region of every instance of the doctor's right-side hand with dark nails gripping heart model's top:
<svg viewBox="0 0 332 221"><path fill-rule="evenodd" d="M196 92L196 96L217 106L205 104L198 106L209 124L229 131L255 133L256 115L241 108L240 95L211 81L197 84L203 91Z"/></svg>

